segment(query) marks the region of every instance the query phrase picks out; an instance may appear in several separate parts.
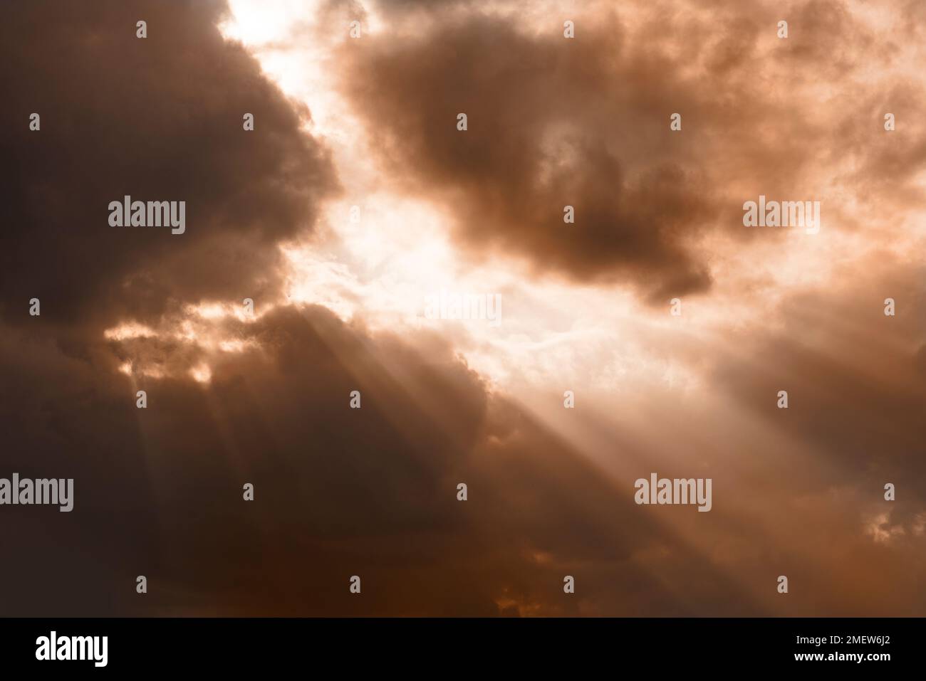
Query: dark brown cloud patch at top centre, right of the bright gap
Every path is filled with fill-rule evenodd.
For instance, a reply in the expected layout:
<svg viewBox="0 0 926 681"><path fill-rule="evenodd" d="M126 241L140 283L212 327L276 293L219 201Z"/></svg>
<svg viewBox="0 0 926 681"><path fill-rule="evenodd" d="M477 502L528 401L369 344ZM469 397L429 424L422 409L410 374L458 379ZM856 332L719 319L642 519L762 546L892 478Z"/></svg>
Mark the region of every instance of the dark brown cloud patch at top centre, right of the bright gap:
<svg viewBox="0 0 926 681"><path fill-rule="evenodd" d="M609 82L621 38L616 25L608 31L610 43L561 44L477 16L420 38L372 37L346 45L344 84L369 117L374 145L454 205L472 248L529 254L538 270L578 279L617 270L648 277L656 291L704 288L705 269L677 241L711 215L710 190L667 157L671 140L658 142L652 164L628 172L622 148L652 141L648 129L668 126L675 109L654 82L658 119L644 123L644 112L628 108L608 120L627 104L626 84ZM460 112L466 132L456 130ZM602 136L605 126L613 134ZM563 224L567 204L575 226Z"/></svg>

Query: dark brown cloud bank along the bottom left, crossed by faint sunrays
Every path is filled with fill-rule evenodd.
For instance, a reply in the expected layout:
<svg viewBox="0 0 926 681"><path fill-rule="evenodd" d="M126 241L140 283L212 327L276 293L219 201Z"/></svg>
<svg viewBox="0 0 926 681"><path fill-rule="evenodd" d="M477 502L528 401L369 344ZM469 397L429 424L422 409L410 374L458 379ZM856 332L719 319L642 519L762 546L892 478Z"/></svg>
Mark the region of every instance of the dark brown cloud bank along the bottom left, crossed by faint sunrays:
<svg viewBox="0 0 926 681"><path fill-rule="evenodd" d="M245 326L258 348L214 365L208 387L142 380L144 411L106 353L5 334L5 469L54 469L76 489L67 517L19 507L0 529L19 555L5 613L579 613L566 574L588 580L594 612L684 611L632 561L669 538L630 488L487 392L443 341L413 349L320 307ZM729 587L676 551L705 581L694 600L716 607Z"/></svg>

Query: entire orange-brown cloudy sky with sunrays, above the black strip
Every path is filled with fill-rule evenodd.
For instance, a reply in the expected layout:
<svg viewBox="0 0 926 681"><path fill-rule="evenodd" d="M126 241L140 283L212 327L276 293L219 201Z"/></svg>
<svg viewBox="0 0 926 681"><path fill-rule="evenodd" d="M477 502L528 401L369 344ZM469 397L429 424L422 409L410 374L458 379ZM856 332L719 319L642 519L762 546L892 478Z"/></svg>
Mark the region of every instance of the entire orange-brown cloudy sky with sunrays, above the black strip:
<svg viewBox="0 0 926 681"><path fill-rule="evenodd" d="M926 614L920 2L0 13L0 614Z"/></svg>

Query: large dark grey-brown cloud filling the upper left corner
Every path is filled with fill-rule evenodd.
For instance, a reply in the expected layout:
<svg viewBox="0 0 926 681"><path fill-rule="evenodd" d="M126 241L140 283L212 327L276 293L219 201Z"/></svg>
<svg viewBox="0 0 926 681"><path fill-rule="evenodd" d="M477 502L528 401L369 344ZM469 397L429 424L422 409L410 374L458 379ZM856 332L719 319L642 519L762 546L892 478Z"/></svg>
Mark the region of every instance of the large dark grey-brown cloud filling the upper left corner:
<svg viewBox="0 0 926 681"><path fill-rule="evenodd" d="M223 11L219 2L4 6L7 323L25 318L32 297L50 323L273 291L276 243L312 226L335 180L323 148L299 130L307 109L221 38ZM40 131L29 130L32 112ZM185 201L186 232L110 227L107 205L125 194Z"/></svg>

